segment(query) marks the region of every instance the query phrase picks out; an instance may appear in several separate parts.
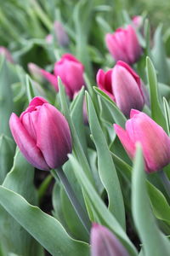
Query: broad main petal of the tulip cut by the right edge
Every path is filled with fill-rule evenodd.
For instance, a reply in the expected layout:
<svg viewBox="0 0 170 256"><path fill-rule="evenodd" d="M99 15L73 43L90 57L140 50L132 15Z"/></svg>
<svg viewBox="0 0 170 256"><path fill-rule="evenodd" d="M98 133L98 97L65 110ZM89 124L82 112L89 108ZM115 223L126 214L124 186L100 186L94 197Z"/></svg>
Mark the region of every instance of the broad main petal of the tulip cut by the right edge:
<svg viewBox="0 0 170 256"><path fill-rule="evenodd" d="M167 166L170 162L170 139L161 126L145 113L134 114L128 121L131 123L126 126L128 135L131 133L132 136L133 130L133 142L142 145L146 171L159 171Z"/></svg>

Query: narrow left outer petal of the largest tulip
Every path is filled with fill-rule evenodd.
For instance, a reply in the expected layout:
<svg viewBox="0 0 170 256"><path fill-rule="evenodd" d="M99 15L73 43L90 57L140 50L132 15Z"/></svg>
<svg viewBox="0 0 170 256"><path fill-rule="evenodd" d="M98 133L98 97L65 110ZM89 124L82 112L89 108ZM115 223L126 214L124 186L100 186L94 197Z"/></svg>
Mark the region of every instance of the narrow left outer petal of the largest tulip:
<svg viewBox="0 0 170 256"><path fill-rule="evenodd" d="M12 113L9 119L9 125L14 141L17 143L22 154L26 157L26 160L28 160L32 166L48 171L49 167L46 164L40 149L37 148L35 141L30 137L15 113Z"/></svg>

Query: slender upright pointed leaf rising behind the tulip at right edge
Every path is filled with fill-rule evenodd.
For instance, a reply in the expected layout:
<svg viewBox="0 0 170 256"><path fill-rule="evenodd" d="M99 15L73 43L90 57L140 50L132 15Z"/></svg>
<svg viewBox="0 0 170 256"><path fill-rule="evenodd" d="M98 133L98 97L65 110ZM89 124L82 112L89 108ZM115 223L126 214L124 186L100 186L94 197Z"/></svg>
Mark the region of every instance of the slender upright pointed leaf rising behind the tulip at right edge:
<svg viewBox="0 0 170 256"><path fill-rule="evenodd" d="M159 102L158 90L157 90L157 79L155 68L150 61L150 58L146 58L147 77L150 85L150 105L151 105L151 117L156 121L158 125L167 131L167 125L165 117L161 112L161 106Z"/></svg>

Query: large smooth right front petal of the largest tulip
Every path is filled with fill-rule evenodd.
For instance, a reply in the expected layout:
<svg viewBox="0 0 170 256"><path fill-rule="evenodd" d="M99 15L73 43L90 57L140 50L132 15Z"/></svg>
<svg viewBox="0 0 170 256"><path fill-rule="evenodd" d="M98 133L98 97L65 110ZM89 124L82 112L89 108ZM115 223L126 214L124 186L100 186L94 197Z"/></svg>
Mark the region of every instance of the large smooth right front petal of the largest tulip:
<svg viewBox="0 0 170 256"><path fill-rule="evenodd" d="M62 166L71 153L71 133L65 117L54 106L46 103L40 109L37 122L37 147L48 166Z"/></svg>

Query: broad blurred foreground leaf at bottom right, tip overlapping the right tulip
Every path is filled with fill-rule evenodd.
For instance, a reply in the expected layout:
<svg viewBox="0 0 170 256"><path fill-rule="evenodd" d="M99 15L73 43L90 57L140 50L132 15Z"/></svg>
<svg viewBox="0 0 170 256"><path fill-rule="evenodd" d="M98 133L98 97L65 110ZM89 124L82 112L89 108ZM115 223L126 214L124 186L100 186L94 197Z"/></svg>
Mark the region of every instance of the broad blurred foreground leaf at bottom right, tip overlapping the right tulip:
<svg viewBox="0 0 170 256"><path fill-rule="evenodd" d="M144 159L139 145L133 166L132 209L134 223L143 243L144 255L169 255L170 243L158 229L156 219L151 212L145 183Z"/></svg>

